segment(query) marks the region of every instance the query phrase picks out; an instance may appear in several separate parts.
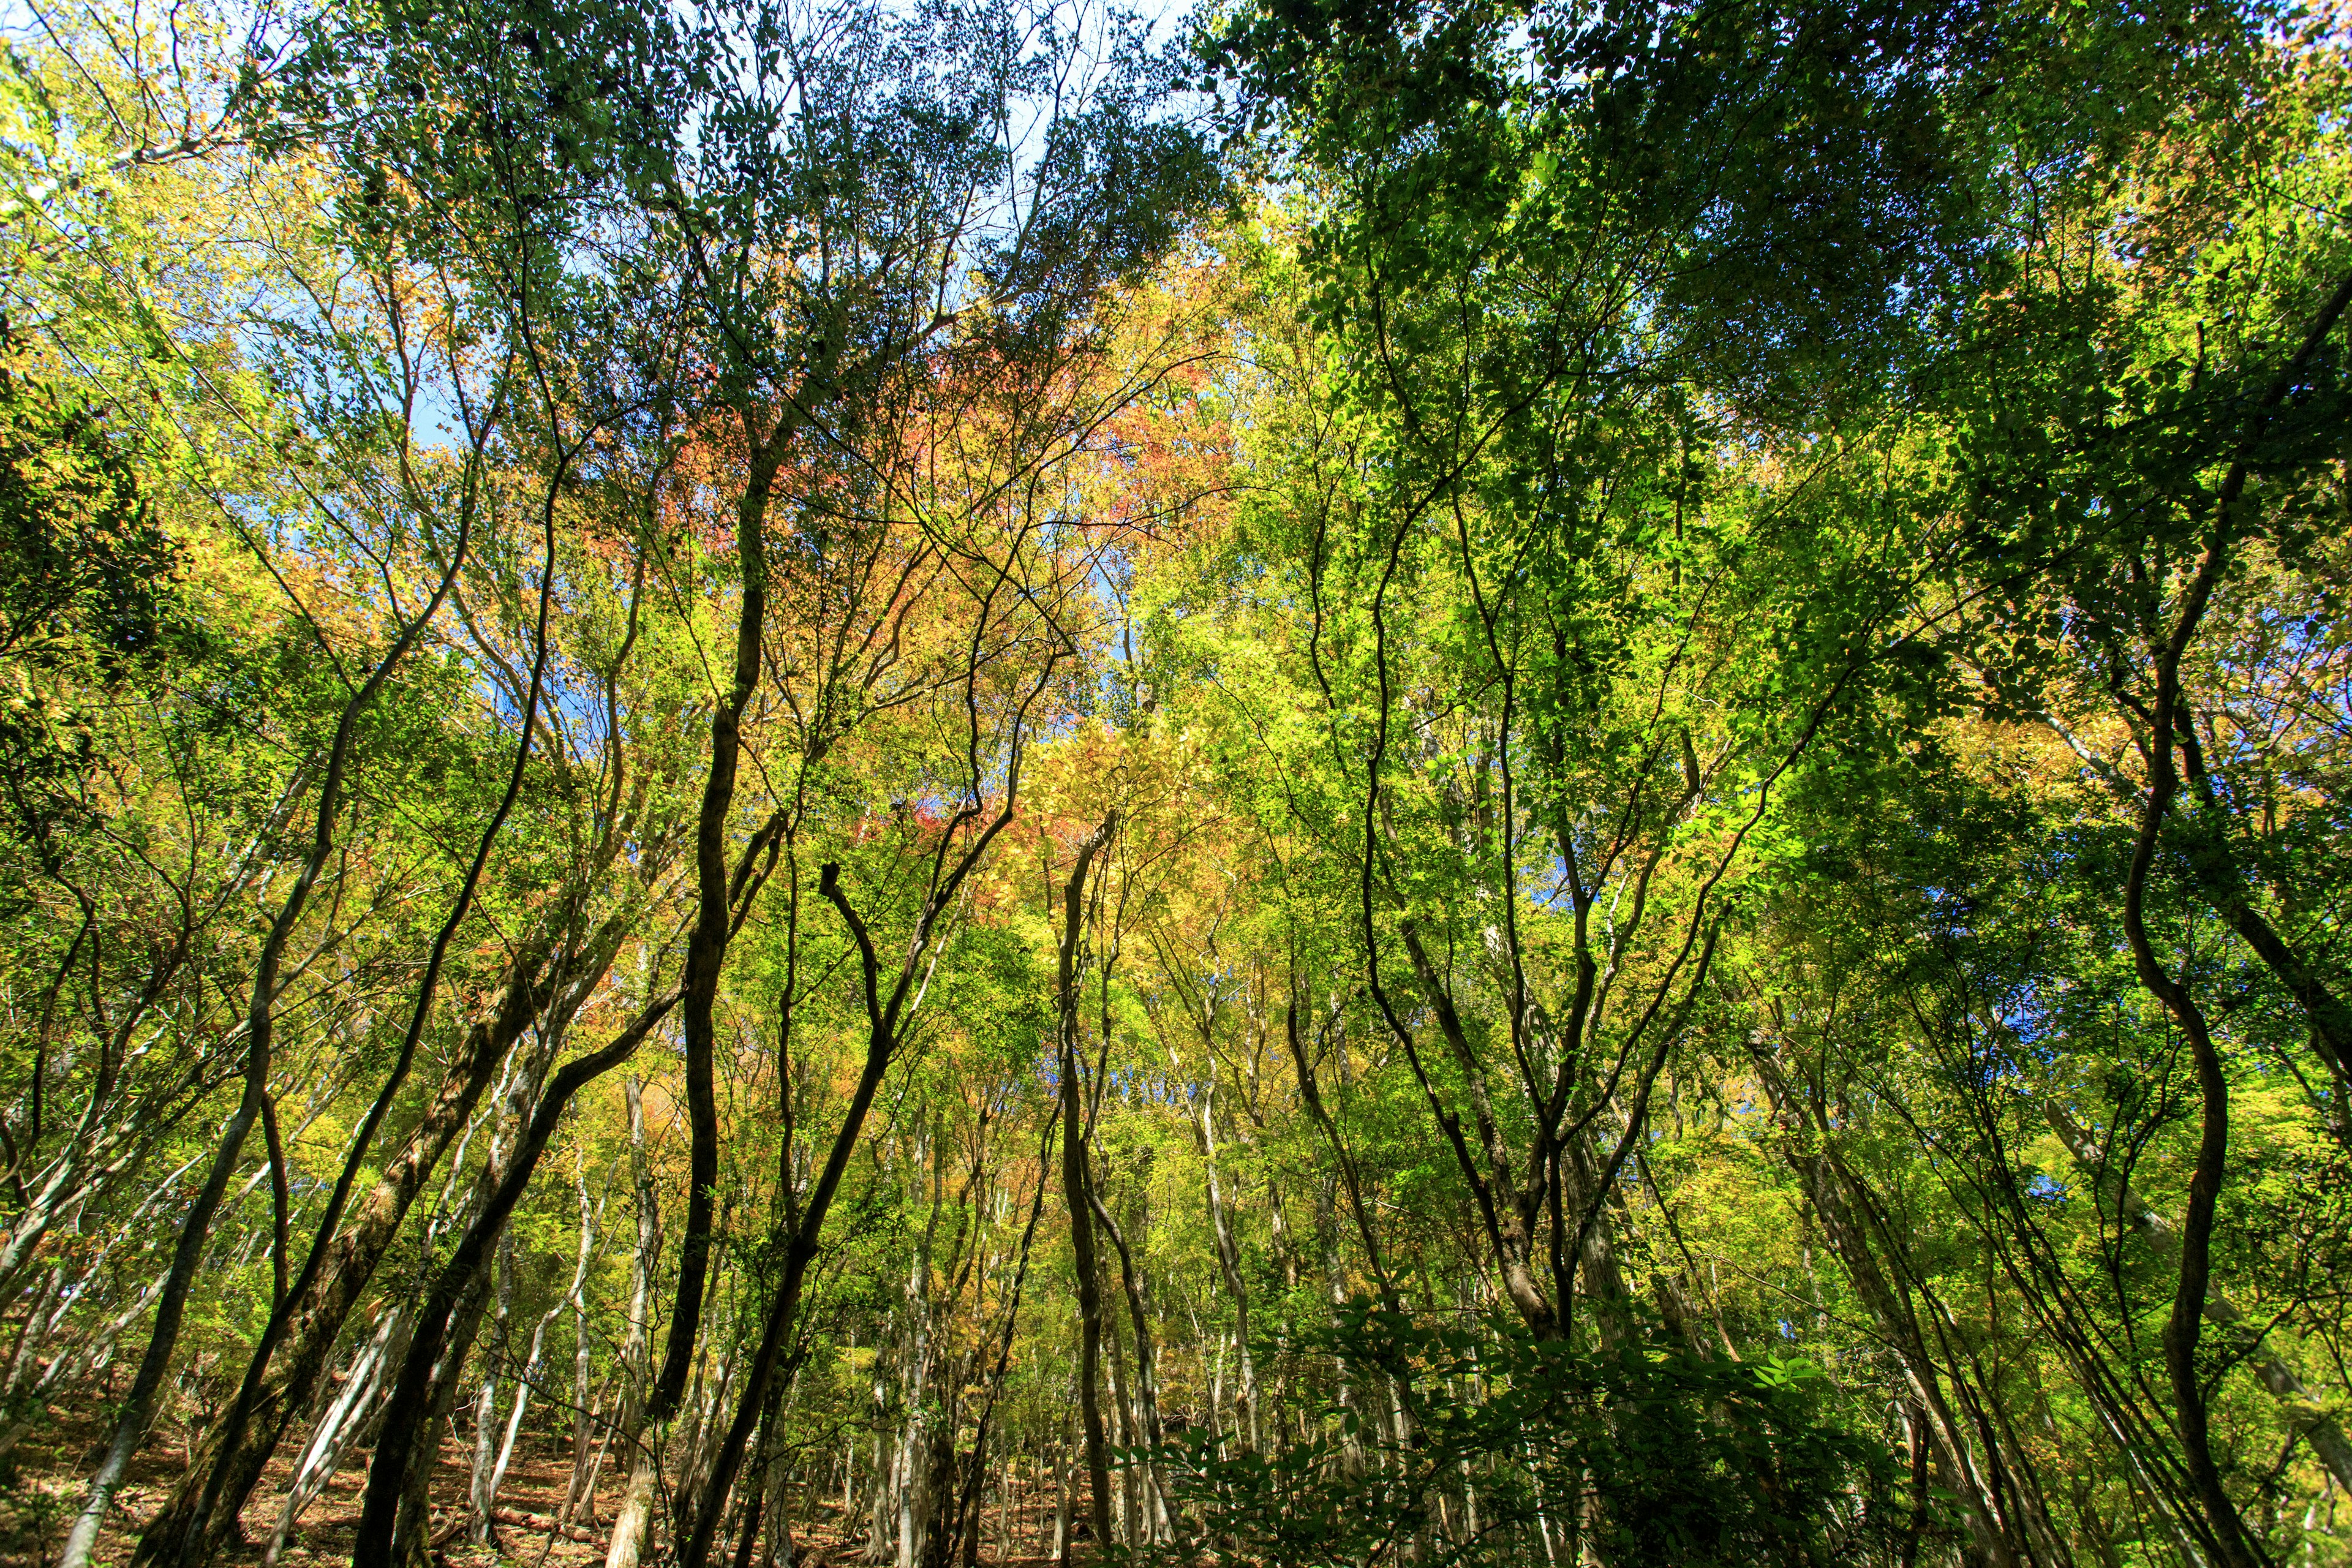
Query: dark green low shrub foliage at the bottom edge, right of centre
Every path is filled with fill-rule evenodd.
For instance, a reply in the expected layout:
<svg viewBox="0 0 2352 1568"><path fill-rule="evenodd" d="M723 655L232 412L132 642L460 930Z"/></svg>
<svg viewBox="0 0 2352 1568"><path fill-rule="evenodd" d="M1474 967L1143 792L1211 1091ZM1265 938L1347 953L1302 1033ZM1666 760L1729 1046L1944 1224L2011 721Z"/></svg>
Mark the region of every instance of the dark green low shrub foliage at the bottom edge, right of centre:
<svg viewBox="0 0 2352 1568"><path fill-rule="evenodd" d="M1550 1533L1602 1563L1879 1563L1910 1523L1891 1458L1837 1425L1804 1361L1668 1338L1573 1349L1362 1298L1294 1354L1331 1356L1359 1403L1322 1406L1312 1436L1272 1453L1192 1434L1129 1455L1169 1465L1197 1530L1136 1561L1524 1563ZM1442 1519L1437 1495L1463 1481L1475 1497Z"/></svg>

